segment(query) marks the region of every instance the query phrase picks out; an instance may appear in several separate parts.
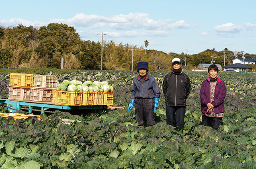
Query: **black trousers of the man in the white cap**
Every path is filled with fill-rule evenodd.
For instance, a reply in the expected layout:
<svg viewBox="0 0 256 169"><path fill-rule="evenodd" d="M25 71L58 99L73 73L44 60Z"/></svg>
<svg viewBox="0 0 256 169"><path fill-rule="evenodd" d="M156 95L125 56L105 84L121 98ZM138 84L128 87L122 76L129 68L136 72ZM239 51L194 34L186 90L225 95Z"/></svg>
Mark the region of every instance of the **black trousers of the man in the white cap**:
<svg viewBox="0 0 256 169"><path fill-rule="evenodd" d="M176 123L179 128L184 127L185 106L166 106L166 124L172 125L176 115Z"/></svg>

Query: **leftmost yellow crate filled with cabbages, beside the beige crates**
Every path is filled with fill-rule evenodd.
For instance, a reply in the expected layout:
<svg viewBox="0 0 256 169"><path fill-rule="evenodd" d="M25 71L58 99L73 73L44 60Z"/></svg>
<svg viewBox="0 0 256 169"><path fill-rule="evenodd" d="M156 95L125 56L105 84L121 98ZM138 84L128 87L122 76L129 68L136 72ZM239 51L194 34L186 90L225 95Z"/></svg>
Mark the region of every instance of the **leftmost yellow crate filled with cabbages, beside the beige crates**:
<svg viewBox="0 0 256 169"><path fill-rule="evenodd" d="M66 106L82 106L83 92L56 90L55 103Z"/></svg>

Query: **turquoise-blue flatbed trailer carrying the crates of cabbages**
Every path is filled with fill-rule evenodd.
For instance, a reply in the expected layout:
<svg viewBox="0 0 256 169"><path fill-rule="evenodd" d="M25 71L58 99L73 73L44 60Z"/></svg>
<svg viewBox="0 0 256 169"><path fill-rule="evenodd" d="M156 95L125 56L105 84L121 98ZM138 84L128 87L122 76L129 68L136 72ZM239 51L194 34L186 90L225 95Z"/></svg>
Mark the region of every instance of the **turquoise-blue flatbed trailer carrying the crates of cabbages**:
<svg viewBox="0 0 256 169"><path fill-rule="evenodd" d="M31 100L10 100L10 99L0 99L0 103L6 104L7 109L10 112L15 112L16 110L21 110L22 106L27 106L29 108L28 113L32 113L32 109L41 109L41 114L48 109L56 110L94 110L98 111L100 114L104 113L107 109L107 105L94 105L94 106L64 106L55 104L54 102L37 102ZM15 110L16 109L16 110Z"/></svg>

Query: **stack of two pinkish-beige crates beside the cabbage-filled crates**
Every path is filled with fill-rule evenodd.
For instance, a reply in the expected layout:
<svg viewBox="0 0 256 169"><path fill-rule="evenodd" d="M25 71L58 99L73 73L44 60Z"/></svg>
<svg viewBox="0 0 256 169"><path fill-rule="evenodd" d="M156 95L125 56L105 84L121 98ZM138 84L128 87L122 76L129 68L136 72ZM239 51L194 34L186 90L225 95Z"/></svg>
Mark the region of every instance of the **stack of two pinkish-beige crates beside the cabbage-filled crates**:
<svg viewBox="0 0 256 169"><path fill-rule="evenodd" d="M52 102L53 90L56 90L58 77L54 75L34 75L34 85L31 88L30 100Z"/></svg>

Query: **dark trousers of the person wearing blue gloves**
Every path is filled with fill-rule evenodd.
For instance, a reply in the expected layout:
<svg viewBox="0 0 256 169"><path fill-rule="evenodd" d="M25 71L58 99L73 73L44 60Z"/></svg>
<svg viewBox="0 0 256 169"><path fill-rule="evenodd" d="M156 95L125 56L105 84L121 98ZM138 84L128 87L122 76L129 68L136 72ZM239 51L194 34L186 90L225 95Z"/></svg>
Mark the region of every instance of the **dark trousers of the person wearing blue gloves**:
<svg viewBox="0 0 256 169"><path fill-rule="evenodd" d="M135 114L136 114L136 122L139 125L143 124L144 116L149 126L156 124L154 106L155 106L154 98L151 98L151 99L135 98L134 107L135 107Z"/></svg>

